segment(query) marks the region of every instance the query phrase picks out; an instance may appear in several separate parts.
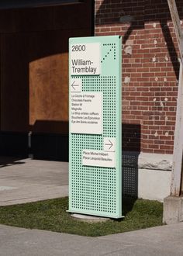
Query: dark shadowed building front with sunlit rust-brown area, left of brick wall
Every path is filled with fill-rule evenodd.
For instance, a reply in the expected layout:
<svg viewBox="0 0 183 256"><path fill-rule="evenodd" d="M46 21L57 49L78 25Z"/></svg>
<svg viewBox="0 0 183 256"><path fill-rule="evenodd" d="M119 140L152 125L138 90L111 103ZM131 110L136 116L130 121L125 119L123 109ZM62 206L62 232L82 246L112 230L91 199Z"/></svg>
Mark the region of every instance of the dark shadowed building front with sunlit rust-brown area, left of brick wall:
<svg viewBox="0 0 183 256"><path fill-rule="evenodd" d="M0 5L0 154L68 161L68 39L93 35L94 4L36 2Z"/></svg>

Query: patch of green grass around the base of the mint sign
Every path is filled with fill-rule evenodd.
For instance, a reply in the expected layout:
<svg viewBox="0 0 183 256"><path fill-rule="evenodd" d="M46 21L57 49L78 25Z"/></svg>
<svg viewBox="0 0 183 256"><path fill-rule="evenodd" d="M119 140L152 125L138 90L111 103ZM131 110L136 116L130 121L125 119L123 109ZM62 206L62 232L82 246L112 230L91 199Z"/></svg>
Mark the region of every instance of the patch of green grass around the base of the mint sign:
<svg viewBox="0 0 183 256"><path fill-rule="evenodd" d="M162 225L163 204L143 199L124 199L124 220L86 223L67 213L68 198L0 207L0 223L29 229L51 230L81 236L104 236Z"/></svg>

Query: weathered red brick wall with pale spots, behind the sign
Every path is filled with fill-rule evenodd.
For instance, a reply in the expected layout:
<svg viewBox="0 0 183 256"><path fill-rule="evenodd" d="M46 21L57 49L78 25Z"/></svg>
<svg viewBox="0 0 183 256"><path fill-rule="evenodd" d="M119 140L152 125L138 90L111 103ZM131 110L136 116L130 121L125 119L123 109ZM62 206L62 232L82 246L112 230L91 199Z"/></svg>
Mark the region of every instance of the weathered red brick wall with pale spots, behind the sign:
<svg viewBox="0 0 183 256"><path fill-rule="evenodd" d="M95 35L123 36L123 150L172 154L179 63L167 1L96 0Z"/></svg>

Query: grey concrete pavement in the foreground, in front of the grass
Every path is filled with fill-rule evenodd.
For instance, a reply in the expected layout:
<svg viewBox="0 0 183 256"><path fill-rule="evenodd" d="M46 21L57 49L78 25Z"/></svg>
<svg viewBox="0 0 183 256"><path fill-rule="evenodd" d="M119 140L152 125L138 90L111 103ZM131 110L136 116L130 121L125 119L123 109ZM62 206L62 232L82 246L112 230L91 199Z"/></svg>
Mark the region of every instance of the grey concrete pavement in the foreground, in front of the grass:
<svg viewBox="0 0 183 256"><path fill-rule="evenodd" d="M183 223L105 237L0 225L1 256L182 256Z"/></svg>

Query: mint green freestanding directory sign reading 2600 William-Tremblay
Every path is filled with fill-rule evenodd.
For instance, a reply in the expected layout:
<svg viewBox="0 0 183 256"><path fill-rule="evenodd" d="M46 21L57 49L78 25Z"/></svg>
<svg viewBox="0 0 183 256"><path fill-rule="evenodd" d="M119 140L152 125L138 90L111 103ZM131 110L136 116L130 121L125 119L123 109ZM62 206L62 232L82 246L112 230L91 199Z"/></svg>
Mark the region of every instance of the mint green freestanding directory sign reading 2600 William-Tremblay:
<svg viewBox="0 0 183 256"><path fill-rule="evenodd" d="M69 40L69 212L122 216L121 36Z"/></svg>

